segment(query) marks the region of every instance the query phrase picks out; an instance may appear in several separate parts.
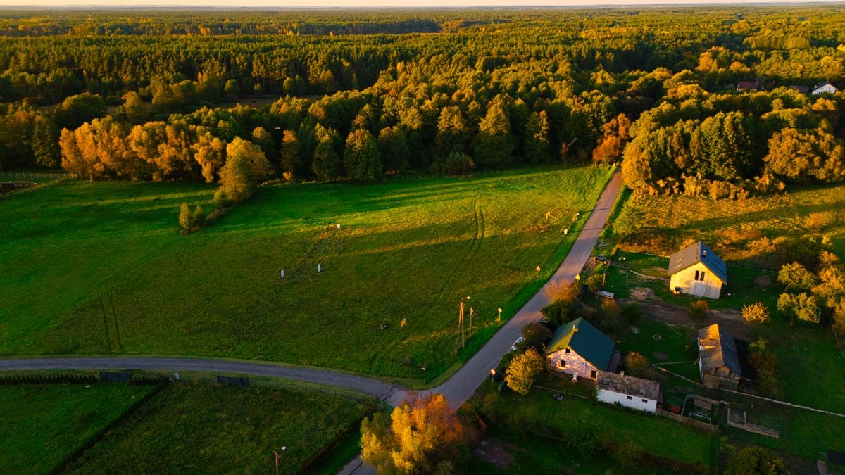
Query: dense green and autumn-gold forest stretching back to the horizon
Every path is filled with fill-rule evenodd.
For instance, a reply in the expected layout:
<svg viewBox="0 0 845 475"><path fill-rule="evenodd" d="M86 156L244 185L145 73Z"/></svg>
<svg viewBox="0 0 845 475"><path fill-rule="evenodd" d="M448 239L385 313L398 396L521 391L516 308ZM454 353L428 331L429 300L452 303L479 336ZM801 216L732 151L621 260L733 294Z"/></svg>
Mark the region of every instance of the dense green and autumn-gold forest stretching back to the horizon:
<svg viewBox="0 0 845 475"><path fill-rule="evenodd" d="M248 148L253 180L622 161L649 193L838 181L845 97L796 86L845 85L843 24L837 6L6 11L0 167L215 182Z"/></svg>

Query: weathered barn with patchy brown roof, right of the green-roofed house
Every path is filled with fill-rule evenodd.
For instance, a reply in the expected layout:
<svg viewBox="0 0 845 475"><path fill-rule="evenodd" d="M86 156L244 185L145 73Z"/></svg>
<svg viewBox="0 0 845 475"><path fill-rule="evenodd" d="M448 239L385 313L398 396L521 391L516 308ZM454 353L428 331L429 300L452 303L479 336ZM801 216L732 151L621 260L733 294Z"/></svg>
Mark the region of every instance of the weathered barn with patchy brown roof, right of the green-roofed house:
<svg viewBox="0 0 845 475"><path fill-rule="evenodd" d="M742 379L736 339L719 325L698 330L698 369L701 384L736 390Z"/></svg>

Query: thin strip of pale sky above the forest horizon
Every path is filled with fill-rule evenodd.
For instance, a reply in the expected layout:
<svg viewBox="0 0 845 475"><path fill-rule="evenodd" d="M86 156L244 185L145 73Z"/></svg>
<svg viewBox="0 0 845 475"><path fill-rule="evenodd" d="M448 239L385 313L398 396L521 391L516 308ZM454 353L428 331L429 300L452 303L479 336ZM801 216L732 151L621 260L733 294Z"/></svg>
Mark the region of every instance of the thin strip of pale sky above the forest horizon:
<svg viewBox="0 0 845 475"><path fill-rule="evenodd" d="M444 8L444 7L578 7L578 6L645 6L645 5L738 5L750 3L842 3L842 0L711 0L684 2L679 0L0 0L0 7L214 7L214 8Z"/></svg>

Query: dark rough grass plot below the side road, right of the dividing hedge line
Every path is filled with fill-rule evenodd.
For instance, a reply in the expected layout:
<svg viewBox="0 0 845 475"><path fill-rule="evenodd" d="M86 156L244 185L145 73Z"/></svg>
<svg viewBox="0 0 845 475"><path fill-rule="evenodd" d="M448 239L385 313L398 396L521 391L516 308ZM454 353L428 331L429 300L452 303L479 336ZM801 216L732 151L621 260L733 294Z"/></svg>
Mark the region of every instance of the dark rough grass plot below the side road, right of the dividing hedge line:
<svg viewBox="0 0 845 475"><path fill-rule="evenodd" d="M369 402L316 391L178 383L150 399L68 473L297 473L357 429ZM286 450L281 450L286 447Z"/></svg>

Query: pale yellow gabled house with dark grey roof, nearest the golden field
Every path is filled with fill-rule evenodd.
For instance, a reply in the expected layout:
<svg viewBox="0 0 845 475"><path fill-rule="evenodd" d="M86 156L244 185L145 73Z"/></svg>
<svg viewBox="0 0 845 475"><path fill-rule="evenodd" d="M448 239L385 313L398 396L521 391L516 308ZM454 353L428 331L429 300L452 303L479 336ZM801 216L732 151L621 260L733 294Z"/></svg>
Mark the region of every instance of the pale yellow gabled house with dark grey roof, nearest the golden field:
<svg viewBox="0 0 845 475"><path fill-rule="evenodd" d="M719 298L728 283L725 263L699 241L669 258L669 288L698 297Z"/></svg>

